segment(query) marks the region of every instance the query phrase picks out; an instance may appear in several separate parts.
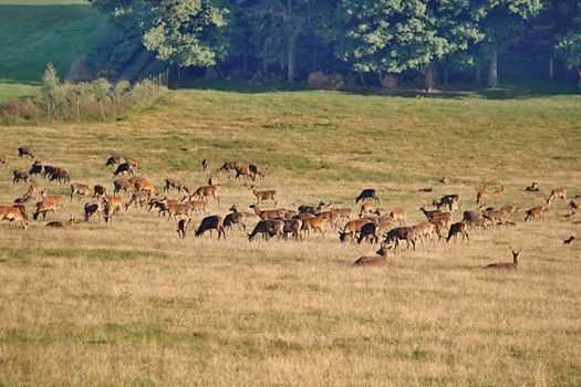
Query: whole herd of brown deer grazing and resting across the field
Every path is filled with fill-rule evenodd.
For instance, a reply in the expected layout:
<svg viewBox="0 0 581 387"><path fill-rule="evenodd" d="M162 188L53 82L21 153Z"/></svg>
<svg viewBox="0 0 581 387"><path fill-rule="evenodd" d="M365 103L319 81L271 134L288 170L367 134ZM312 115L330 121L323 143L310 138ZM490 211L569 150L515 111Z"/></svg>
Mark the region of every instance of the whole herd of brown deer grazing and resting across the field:
<svg viewBox="0 0 581 387"><path fill-rule="evenodd" d="M39 220L40 216L45 219L49 213L59 212L65 201L63 195L48 195L34 178L42 177L48 181L68 184L71 181L71 177L64 168L40 163L27 147L18 148L18 156L20 158L29 157L34 160L30 166L30 170L13 170L12 172L13 185L22 180L28 182L29 187L22 197L17 198L12 205L0 206L0 220L18 222L25 229L29 226L27 203L35 198L40 198L35 202L32 213L32 218ZM0 156L0 164L8 168L6 156ZM102 185L95 185L92 188L77 182L70 185L71 201L75 198L79 200L82 198L90 199L84 205L84 221L89 221L94 216L97 216L108 223L116 213L123 209L127 211L132 207L146 208L149 211L157 209L158 216L163 215L165 217L167 215L168 219L174 218L177 221L177 233L179 238L185 239L191 222L193 212L196 216L199 216L201 212L205 218L201 220L195 234L201 237L209 231L211 236L212 230L216 230L219 240L220 238L226 239L227 231L234 232L235 224L246 232L247 221L256 219L258 221L253 230L248 233L249 241L252 241L258 234L261 234L263 240L270 240L273 237L278 237L279 240L288 239L289 236L294 240L302 240L311 231L324 234L323 229L325 224L329 224L339 232L339 239L342 242L350 240L360 244L364 241L380 243L381 248L377 250L376 255L360 258L354 263L356 266L385 264L387 251L392 248L394 251L397 251L401 241L406 242L407 249L413 247L415 250L417 240L422 244L429 241L437 243L443 239L446 242L450 242L450 240L456 240L458 236L461 236L463 241L465 239L469 241L469 229L487 229L490 226L513 227L516 222L507 218L519 211L519 208L515 206L504 206L498 209L485 208L488 189L484 187L476 195L477 209L464 211L460 221L454 222L454 213L459 210L460 196L446 195L439 200L433 201L433 209L426 209L425 206L419 208L426 217L425 221L414 226L406 226L406 211L402 208L396 208L388 213L382 215L378 208L380 198L375 189L364 189L355 198L355 203L361 205L359 217L355 217L352 208L336 208L332 203L324 201L320 201L318 206L299 206L297 210L261 209L259 206L266 201L272 201L274 206L278 205L277 191L257 190L252 185L250 191L256 197L256 203L249 206L252 211L240 211L237 206L232 206L230 212L222 217L220 215L209 215L209 199L211 198L218 205L220 203L219 185L216 177L210 177L208 185L201 186L196 190L190 190L181 179L167 178L163 189L164 194L168 194L172 189L177 190L178 195L183 194L181 198L167 198L166 196L160 196L154 182L144 177L135 176L135 169L142 168L138 160L131 157L111 156L105 165L114 168L113 175L116 179L113 181L113 195L107 195L107 188ZM204 172L209 172L210 163L207 159L201 161L201 166ZM229 178L231 178L230 172L234 171L236 174L235 179L249 178L252 181L266 177L258 166L253 164L243 166L237 161L225 163L218 171L228 174ZM445 185L448 179L445 177L439 181ZM432 191L432 189L423 190ZM539 191L539 188L533 182L531 186L526 187L525 190L536 192ZM121 196L122 191L125 195L125 203ZM494 189L494 194L497 195L504 191L504 186L497 186ZM566 189L553 189L546 201L546 206L536 206L528 209L525 221L542 217L554 199L567 200ZM566 215L567 218L574 216L579 208L574 200L569 202L569 207L571 212ZM70 228L76 222L79 220L71 216L66 221L51 221L46 223L46 227ZM488 268L516 269L520 251L512 251L512 263L494 263L488 265Z"/></svg>

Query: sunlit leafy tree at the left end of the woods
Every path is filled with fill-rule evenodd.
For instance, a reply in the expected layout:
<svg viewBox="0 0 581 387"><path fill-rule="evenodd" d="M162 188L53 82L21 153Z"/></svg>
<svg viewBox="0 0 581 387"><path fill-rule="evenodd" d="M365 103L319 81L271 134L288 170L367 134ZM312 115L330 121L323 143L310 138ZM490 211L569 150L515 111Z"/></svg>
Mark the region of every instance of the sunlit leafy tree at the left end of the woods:
<svg viewBox="0 0 581 387"><path fill-rule="evenodd" d="M228 53L228 9L214 0L90 0L137 25L143 44L180 66L210 66Z"/></svg>

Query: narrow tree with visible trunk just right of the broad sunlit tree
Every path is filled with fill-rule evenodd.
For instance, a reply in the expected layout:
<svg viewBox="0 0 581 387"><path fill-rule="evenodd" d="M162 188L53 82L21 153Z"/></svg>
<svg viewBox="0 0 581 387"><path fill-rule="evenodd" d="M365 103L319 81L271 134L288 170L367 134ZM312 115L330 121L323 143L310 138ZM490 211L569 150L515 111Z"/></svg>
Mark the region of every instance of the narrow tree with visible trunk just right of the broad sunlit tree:
<svg viewBox="0 0 581 387"><path fill-rule="evenodd" d="M486 0L478 2L476 15L485 34L480 54L488 59L488 87L498 87L498 52L522 34L523 21L537 14L541 0Z"/></svg>

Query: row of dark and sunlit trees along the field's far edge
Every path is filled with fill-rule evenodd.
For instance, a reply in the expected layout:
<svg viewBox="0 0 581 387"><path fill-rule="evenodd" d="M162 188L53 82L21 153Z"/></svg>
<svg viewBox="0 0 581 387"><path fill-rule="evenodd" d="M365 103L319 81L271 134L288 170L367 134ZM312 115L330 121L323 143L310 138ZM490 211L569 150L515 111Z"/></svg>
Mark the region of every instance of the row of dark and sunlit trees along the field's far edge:
<svg viewBox="0 0 581 387"><path fill-rule="evenodd" d="M549 55L579 73L579 0L90 0L179 67L217 66L235 76L305 79L315 71L436 74L474 71L496 87L499 52L543 10ZM552 62L551 62L552 64Z"/></svg>

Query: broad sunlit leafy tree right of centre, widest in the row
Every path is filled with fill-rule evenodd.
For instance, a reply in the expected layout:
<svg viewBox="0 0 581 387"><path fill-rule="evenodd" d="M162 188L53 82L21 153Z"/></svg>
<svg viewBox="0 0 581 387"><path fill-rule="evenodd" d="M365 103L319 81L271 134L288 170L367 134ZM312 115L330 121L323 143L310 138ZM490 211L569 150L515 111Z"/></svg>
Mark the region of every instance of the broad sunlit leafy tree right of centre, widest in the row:
<svg viewBox="0 0 581 387"><path fill-rule="evenodd" d="M343 0L344 34L336 54L359 72L424 72L434 88L434 65L480 39L469 1Z"/></svg>

